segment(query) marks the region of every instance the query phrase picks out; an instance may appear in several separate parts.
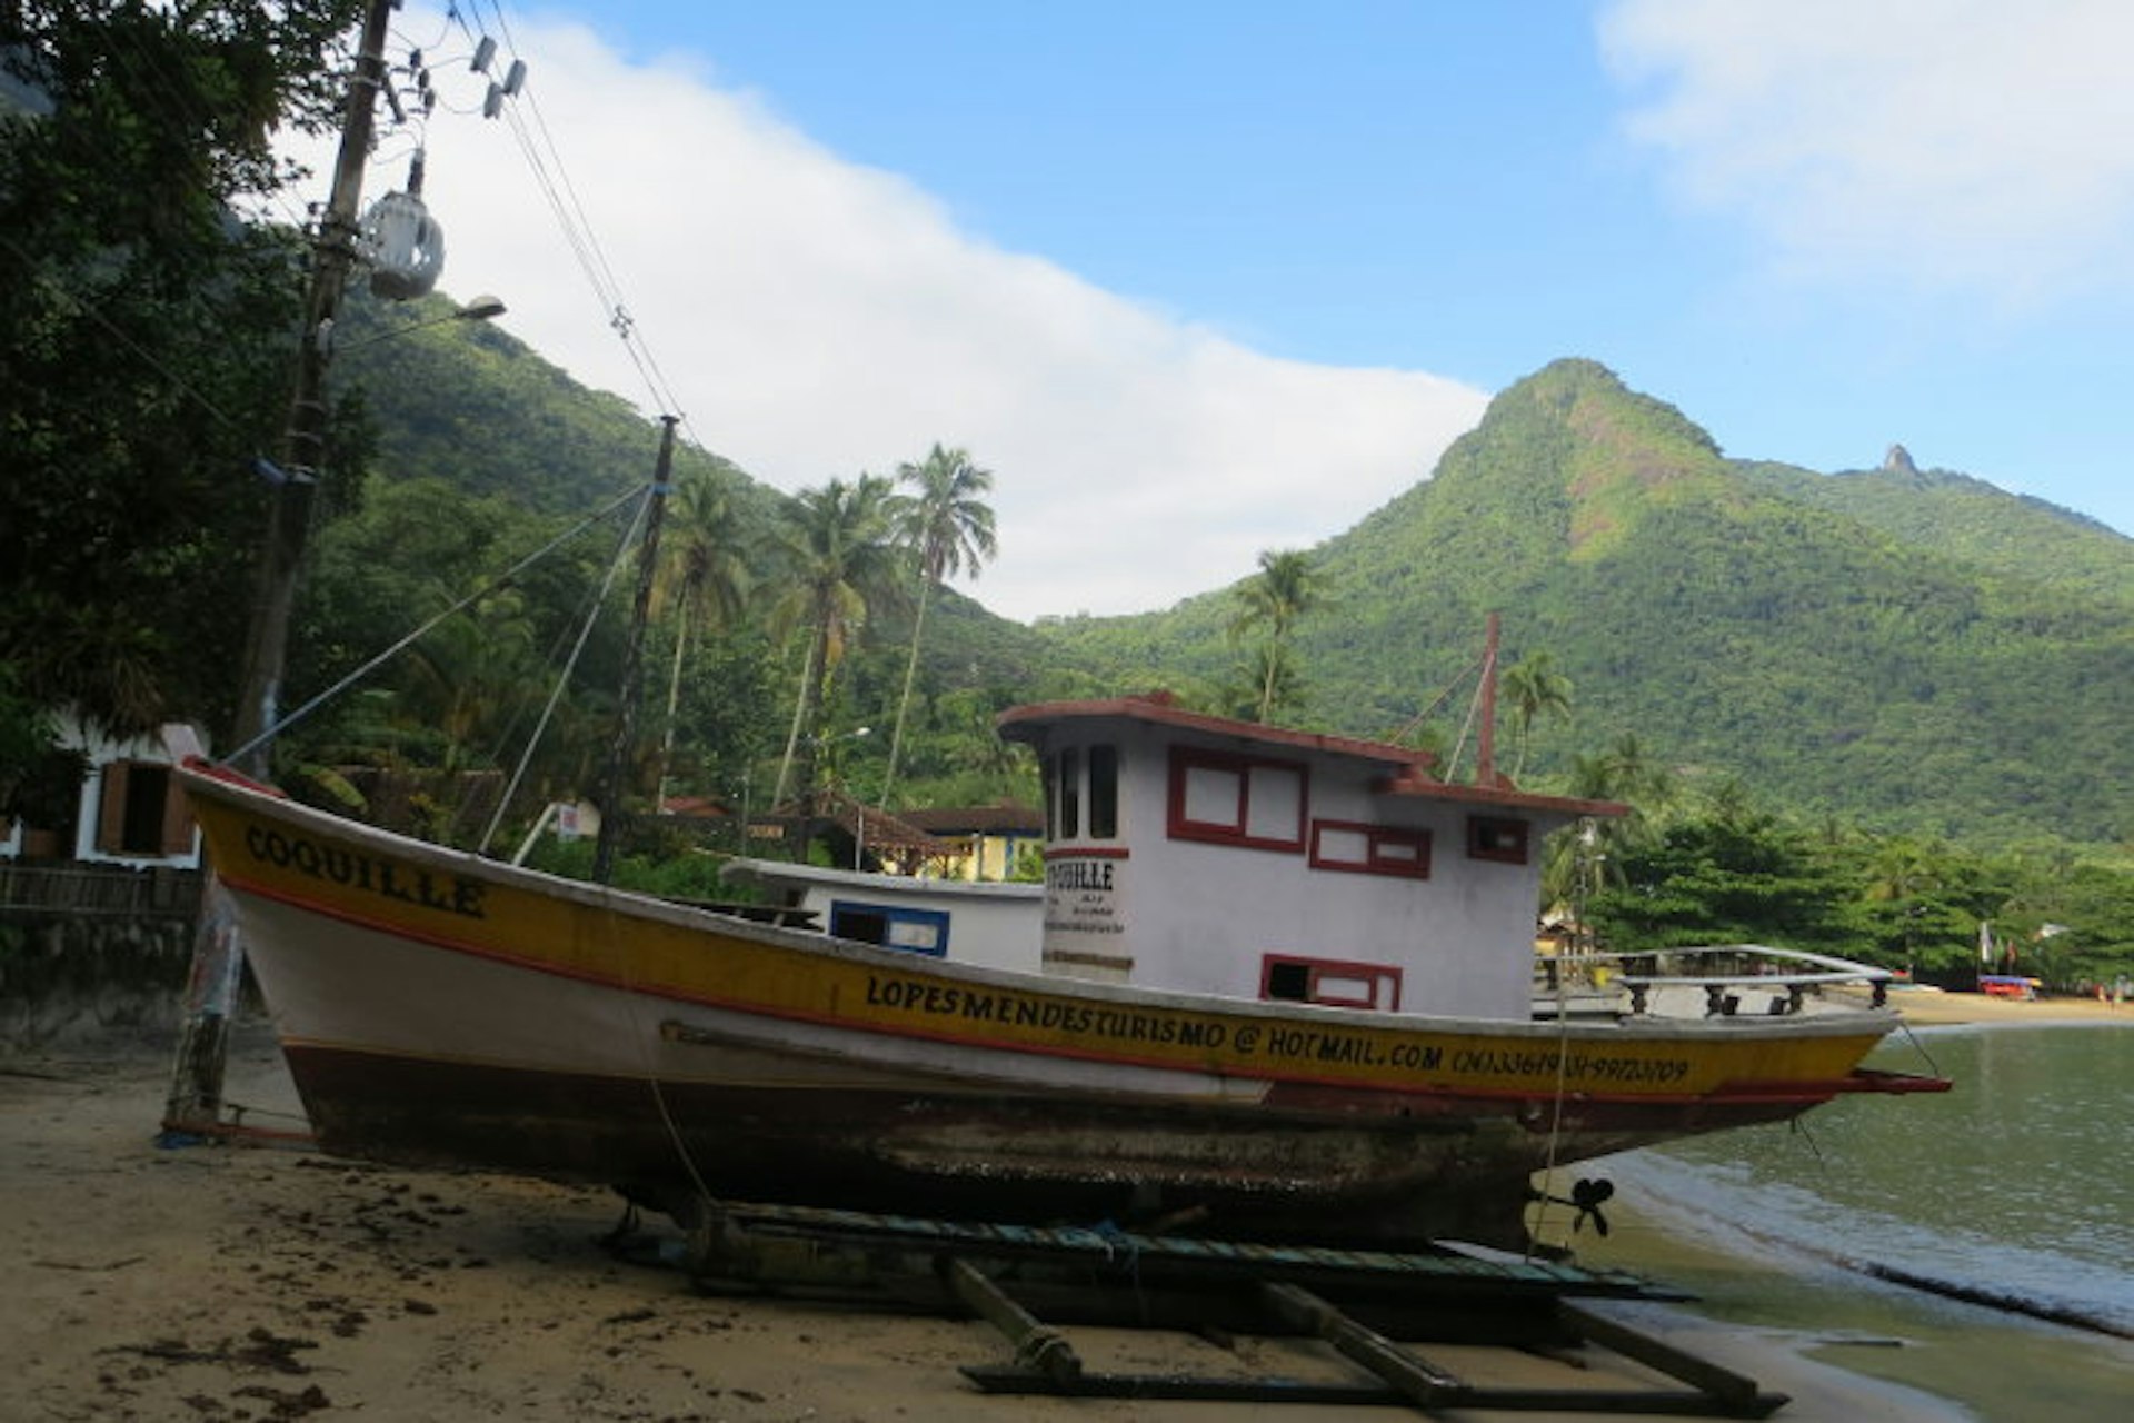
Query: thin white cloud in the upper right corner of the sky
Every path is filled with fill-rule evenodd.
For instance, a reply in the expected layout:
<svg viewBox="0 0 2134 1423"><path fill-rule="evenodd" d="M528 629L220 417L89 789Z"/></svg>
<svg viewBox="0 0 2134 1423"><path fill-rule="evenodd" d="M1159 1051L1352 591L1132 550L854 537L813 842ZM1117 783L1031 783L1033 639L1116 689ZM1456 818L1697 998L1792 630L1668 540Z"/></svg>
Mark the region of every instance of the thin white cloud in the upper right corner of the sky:
<svg viewBox="0 0 2134 1423"><path fill-rule="evenodd" d="M2123 0L1624 0L1630 134L1797 275L2027 303L2125 282Z"/></svg>

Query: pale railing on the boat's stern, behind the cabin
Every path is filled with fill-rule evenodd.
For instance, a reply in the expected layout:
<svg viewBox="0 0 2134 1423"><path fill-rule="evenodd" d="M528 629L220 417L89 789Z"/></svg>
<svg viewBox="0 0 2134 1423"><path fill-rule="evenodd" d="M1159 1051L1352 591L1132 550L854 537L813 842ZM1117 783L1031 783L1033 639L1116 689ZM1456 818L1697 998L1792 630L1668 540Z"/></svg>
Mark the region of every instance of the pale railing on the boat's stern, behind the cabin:
<svg viewBox="0 0 2134 1423"><path fill-rule="evenodd" d="M1754 998L1771 1018L1799 1013L1825 988L1865 986L1869 1007L1889 1005L1889 969L1850 958L1778 949L1763 943L1722 943L1639 954L1564 954L1549 960L1558 986L1583 977L1609 996L1628 994L1628 1011L1647 1016L1656 998L1703 990L1705 1018L1733 1018Z"/></svg>

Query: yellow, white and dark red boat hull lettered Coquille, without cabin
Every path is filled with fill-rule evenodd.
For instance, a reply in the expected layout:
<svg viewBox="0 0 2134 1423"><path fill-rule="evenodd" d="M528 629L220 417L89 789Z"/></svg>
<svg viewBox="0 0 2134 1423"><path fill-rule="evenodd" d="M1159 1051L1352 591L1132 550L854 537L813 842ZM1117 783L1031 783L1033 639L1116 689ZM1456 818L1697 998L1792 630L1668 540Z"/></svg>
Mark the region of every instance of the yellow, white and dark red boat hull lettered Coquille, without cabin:
<svg viewBox="0 0 2134 1423"><path fill-rule="evenodd" d="M1528 1024L984 971L188 789L320 1146L702 1197L1502 1237L1545 1163L1854 1090L1880 1011Z"/></svg>

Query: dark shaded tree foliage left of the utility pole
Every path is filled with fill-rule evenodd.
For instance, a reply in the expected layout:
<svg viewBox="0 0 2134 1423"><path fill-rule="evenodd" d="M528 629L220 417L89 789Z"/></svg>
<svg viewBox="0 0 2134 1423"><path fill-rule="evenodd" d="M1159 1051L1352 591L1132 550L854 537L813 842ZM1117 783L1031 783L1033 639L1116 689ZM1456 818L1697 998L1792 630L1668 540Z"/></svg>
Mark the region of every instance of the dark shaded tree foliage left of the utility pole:
<svg viewBox="0 0 2134 1423"><path fill-rule="evenodd" d="M9 11L0 111L0 661L113 730L220 721L277 444L297 245L228 218L329 111L356 6Z"/></svg>

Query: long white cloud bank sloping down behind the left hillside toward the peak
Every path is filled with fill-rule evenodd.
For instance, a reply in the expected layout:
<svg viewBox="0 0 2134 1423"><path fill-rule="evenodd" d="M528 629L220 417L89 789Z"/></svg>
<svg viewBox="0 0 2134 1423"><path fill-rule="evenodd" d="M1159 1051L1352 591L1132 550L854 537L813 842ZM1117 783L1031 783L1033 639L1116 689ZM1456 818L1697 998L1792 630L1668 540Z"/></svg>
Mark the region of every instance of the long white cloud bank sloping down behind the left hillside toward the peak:
<svg viewBox="0 0 2134 1423"><path fill-rule="evenodd" d="M1276 361L986 245L685 58L623 62L576 26L512 38L525 117L685 429L781 489L969 448L997 476L1001 557L971 587L997 612L1129 612L1240 578L1423 478L1485 403L1417 371ZM649 403L504 122L433 122L425 196L446 290L501 294L510 331Z"/></svg>

